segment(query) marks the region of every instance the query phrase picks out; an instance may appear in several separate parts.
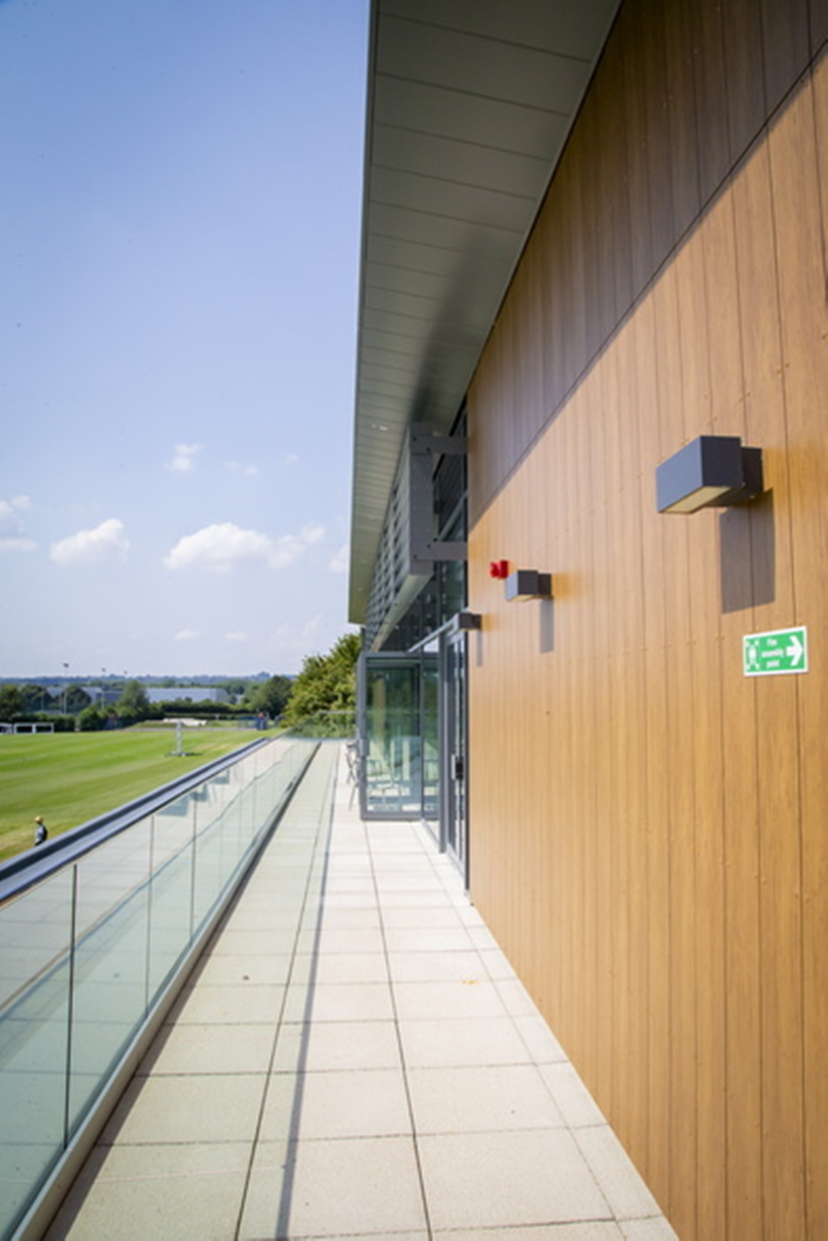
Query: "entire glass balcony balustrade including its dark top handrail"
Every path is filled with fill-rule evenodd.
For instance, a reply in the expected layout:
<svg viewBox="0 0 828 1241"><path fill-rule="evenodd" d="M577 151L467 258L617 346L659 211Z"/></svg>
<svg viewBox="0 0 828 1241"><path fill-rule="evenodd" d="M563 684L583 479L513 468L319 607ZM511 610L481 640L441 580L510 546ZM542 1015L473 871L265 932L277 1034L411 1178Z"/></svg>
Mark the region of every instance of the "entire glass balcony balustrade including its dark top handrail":
<svg viewBox="0 0 828 1241"><path fill-rule="evenodd" d="M261 759L253 753L259 745ZM264 747L271 746L276 750L268 753ZM50 1217L91 1149L318 748L318 740L297 736L293 730L261 738L65 833L50 841L48 848L41 845L12 859L4 867L6 895L0 902L0 930L6 920L5 959L16 962L19 949L24 956L20 979L11 975L5 979L9 994L0 1016L0 1030L6 1035L0 1073L6 1085L0 1109L0 1150L20 1147L24 1155L19 1167L15 1164L15 1175L6 1178L0 1196L0 1236L42 1236L43 1220ZM242 764L240 783L232 777L228 782L221 779L222 771L236 764ZM225 783L228 799L223 804L205 799L207 817L200 824L197 791ZM186 798L192 800L186 831L174 833L169 848L163 845L155 858L156 813L160 810L164 819L165 807ZM139 859L137 870L123 871L120 862L129 859L128 829L140 831L142 823L148 824L138 846L145 851L144 860ZM165 828L159 831L163 839ZM123 843L118 839L122 835ZM107 861L110 844L115 846L115 856ZM103 855L101 862L96 850ZM82 871L89 866L87 884ZM204 876L201 885L196 884L197 875ZM99 907L94 903L96 882L101 885ZM11 900L11 890L16 900ZM93 894L93 905L87 905L86 916L78 917L84 892ZM26 913L26 902L38 900L41 906L36 905L35 915ZM133 901L139 903L133 906ZM53 911L61 913L52 923ZM174 922L169 921L171 911L176 912ZM43 912L47 916L38 917ZM153 918L160 922L154 923ZM138 938L134 938L135 920L143 920ZM34 941L35 953L27 956ZM99 965L107 962L115 963L115 973L110 965L109 973L101 974ZM120 973L124 963L130 983L127 988ZM112 985L110 977L122 979L115 984L120 1006L101 1000ZM27 1013L25 1004L30 1000L32 1008ZM76 1049L81 1046L76 1023L86 1021L88 1028L92 1011L94 1040L84 1041L81 1064L76 1060ZM47 1064L37 1041L41 1030L51 1040ZM53 1106L46 1111L27 1107L21 1112L19 1101L37 1097L45 1076L46 1087L53 1091ZM22 1137L21 1126L26 1128Z"/></svg>

